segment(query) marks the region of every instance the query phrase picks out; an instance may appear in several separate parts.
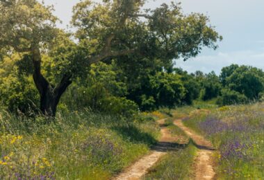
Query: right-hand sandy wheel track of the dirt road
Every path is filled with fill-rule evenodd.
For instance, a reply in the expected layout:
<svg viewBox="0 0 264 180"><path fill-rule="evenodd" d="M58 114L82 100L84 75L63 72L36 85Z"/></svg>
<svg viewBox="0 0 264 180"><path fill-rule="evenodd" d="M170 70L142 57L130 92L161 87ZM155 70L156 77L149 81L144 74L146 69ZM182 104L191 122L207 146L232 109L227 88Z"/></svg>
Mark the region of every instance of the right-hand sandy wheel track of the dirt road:
<svg viewBox="0 0 264 180"><path fill-rule="evenodd" d="M202 136L199 136L188 127L185 127L181 120L175 120L174 124L183 129L183 131L192 138L197 147L197 158L195 159L195 179L214 179L215 171L213 170L213 145Z"/></svg>

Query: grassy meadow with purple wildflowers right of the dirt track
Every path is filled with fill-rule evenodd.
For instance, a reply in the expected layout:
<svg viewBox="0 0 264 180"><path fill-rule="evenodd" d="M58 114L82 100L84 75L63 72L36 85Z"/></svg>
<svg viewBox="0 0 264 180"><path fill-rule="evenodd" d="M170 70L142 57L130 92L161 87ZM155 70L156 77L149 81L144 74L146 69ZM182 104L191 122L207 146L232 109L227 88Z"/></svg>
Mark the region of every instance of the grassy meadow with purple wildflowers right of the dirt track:
<svg viewBox="0 0 264 180"><path fill-rule="evenodd" d="M220 107L184 124L202 132L218 148L219 179L264 177L264 104Z"/></svg>

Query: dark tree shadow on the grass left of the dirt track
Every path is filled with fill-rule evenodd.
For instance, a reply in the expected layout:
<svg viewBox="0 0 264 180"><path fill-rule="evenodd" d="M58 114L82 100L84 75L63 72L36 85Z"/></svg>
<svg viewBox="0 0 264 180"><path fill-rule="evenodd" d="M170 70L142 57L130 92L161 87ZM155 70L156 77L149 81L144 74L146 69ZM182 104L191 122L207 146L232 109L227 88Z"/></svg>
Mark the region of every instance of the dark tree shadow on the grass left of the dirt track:
<svg viewBox="0 0 264 180"><path fill-rule="evenodd" d="M151 134L142 132L134 125L112 127L122 138L129 140L134 143L145 143L149 146L157 143L156 139Z"/></svg>

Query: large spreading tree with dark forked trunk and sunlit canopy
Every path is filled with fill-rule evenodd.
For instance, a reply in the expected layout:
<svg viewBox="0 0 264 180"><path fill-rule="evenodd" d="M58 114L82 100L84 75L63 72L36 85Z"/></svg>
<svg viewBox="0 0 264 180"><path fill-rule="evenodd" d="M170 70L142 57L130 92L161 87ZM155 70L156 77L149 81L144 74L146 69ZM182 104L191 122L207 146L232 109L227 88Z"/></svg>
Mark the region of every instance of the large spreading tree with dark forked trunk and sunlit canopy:
<svg viewBox="0 0 264 180"><path fill-rule="evenodd" d="M37 0L1 0L0 49L31 55L40 109L43 114L55 116L60 97L74 78L86 74L90 64L116 57L164 62L179 57L187 60L198 55L203 46L217 48L215 43L222 39L208 26L208 17L204 15L183 15L180 6L174 3L142 10L144 3L144 0L81 1L74 7L72 19L79 39L76 46L56 28L58 19L52 15L52 6L44 6ZM49 81L44 77L45 53L53 57L56 72L51 74L60 80Z"/></svg>

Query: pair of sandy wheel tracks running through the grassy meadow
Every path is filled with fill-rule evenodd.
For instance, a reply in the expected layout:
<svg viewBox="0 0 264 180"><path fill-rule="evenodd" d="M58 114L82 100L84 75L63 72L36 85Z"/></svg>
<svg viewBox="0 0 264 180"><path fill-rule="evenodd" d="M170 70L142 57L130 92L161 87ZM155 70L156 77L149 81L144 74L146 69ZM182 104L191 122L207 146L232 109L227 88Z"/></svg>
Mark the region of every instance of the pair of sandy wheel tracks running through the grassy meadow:
<svg viewBox="0 0 264 180"><path fill-rule="evenodd" d="M151 153L142 157L139 161L135 162L129 168L126 168L124 172L115 177L116 180L134 180L143 177L149 168L153 166L161 156L164 156L168 150L175 150L175 142L179 140L179 137L173 136L167 127L163 127L165 120L158 120L158 124L161 127L160 142L153 147ZM211 142L206 141L202 136L193 132L188 127L185 127L181 120L175 120L174 125L183 129L183 131L192 138L195 145L199 148L197 152L197 158L195 159L195 179L213 179L215 177L215 171L213 169L213 145ZM177 144L179 145L179 144Z"/></svg>

